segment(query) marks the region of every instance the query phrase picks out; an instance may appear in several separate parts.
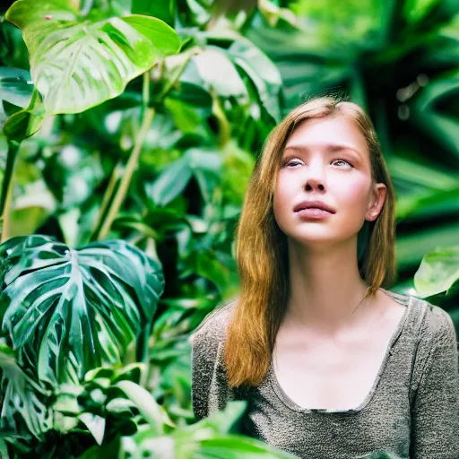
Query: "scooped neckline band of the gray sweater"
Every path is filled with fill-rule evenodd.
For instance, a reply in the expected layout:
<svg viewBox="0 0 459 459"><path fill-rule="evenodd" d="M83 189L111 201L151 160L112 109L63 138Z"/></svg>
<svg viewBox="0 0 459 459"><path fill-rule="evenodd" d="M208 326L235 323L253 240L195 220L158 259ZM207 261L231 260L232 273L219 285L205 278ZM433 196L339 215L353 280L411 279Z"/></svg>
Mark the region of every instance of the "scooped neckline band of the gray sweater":
<svg viewBox="0 0 459 459"><path fill-rule="evenodd" d="M281 388L281 385L279 384L279 381L275 375L275 370L273 366L273 359L271 359L270 363L270 368L268 370L268 378L269 382L273 388L273 391L275 394L277 394L278 398L281 400L281 402L287 406L287 408L290 408L291 411L296 411L296 412L303 412L303 413L324 413L324 414L337 414L337 415L350 415L350 414L355 414L358 413L359 411L362 411L365 409L365 407L370 403L371 399L373 398L374 394L376 393L377 390L377 385L379 384L379 381L381 377L384 374L385 367L387 364L388 359L390 358L392 354L392 348L394 347L395 342L397 341L398 337L402 333L403 327L407 322L408 316L411 315L411 310L413 309L413 299L411 295L401 295L399 293L395 293L389 290L385 290L382 287L379 288L379 290L383 290L385 294L393 298L395 301L397 301L400 304L403 304L403 306L406 307L405 311L403 312L403 316L400 319L398 325L395 327L394 332L392 333L392 336L387 344L387 347L385 349L385 356L381 362L381 365L377 371L377 377L375 378L375 381L373 382L373 385L368 392L367 396L363 400L362 403L359 404L357 408L351 408L347 410L340 410L340 409L329 409L329 408L305 408L302 406L299 406L298 403L294 402L288 394L286 394L283 389Z"/></svg>

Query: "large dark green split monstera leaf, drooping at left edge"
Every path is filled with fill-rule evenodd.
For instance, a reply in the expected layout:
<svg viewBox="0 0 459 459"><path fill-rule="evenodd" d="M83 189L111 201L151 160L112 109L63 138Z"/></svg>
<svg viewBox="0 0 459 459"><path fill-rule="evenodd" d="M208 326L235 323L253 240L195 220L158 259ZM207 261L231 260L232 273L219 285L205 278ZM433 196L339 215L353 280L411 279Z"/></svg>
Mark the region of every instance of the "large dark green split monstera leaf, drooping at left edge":
<svg viewBox="0 0 459 459"><path fill-rule="evenodd" d="M164 290L160 264L123 240L76 250L47 236L11 238L0 260L3 332L18 362L52 385L118 363L150 330Z"/></svg>

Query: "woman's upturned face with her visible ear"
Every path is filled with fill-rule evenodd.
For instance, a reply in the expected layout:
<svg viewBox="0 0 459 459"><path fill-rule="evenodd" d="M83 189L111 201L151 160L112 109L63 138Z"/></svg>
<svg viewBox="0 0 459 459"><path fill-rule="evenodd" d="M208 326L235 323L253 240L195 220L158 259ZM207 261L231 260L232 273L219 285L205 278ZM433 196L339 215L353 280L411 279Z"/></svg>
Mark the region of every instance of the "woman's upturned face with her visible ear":
<svg viewBox="0 0 459 459"><path fill-rule="evenodd" d="M349 115L303 121L282 154L273 196L279 228L307 244L339 243L356 237L373 221L385 200L385 185L371 180L368 147ZM295 212L305 201L320 201L332 212Z"/></svg>

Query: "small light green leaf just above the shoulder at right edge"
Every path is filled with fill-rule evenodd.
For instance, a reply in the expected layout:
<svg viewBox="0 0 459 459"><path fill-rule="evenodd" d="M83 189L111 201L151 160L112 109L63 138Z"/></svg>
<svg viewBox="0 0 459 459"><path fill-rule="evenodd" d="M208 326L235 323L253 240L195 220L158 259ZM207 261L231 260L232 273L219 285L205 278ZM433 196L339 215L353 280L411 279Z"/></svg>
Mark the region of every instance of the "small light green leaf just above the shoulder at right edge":
<svg viewBox="0 0 459 459"><path fill-rule="evenodd" d="M459 280L459 246L437 247L422 258L414 285L422 297L448 290Z"/></svg>

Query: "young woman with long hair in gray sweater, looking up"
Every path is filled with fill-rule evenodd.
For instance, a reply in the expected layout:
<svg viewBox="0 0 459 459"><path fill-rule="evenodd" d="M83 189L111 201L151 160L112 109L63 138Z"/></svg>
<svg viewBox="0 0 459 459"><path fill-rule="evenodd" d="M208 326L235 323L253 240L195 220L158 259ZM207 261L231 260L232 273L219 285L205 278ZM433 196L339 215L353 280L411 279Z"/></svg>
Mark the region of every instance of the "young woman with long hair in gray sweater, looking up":
<svg viewBox="0 0 459 459"><path fill-rule="evenodd" d="M394 282L394 188L365 112L331 97L273 129L237 231L238 299L192 337L199 420L307 458L459 458L455 328Z"/></svg>

